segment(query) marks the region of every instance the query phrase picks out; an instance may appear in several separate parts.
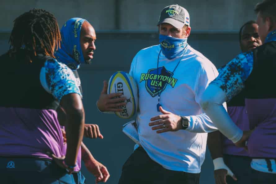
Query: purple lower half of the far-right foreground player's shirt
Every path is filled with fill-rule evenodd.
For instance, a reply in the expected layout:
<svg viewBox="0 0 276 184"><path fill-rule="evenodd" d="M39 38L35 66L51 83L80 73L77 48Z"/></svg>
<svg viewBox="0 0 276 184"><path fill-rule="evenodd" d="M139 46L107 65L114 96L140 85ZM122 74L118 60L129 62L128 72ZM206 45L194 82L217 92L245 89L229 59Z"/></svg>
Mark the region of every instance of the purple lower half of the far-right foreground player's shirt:
<svg viewBox="0 0 276 184"><path fill-rule="evenodd" d="M255 128L248 139L249 156L275 158L276 99L246 99L245 104L250 129Z"/></svg>

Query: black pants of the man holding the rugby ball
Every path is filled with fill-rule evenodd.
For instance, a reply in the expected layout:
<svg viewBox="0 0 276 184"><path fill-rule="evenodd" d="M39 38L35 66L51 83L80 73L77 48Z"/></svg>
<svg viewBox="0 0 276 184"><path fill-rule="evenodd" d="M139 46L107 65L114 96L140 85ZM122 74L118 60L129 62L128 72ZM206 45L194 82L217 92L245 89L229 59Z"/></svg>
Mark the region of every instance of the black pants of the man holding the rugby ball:
<svg viewBox="0 0 276 184"><path fill-rule="evenodd" d="M200 173L185 173L163 168L139 147L122 168L119 184L199 184Z"/></svg>

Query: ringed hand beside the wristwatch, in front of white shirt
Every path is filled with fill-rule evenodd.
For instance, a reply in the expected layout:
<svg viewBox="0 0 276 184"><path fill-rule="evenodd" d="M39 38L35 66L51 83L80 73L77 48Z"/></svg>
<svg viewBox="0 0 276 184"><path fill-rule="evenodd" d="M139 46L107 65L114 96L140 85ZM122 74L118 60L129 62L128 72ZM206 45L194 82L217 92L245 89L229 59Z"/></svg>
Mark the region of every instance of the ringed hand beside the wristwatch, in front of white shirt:
<svg viewBox="0 0 276 184"><path fill-rule="evenodd" d="M161 106L159 107L159 110L162 112L162 115L155 116L150 119L154 122L149 123L149 126L158 125L152 127L152 130L158 130L156 133L160 134L169 131L175 132L182 129L182 119L180 116L165 111Z"/></svg>

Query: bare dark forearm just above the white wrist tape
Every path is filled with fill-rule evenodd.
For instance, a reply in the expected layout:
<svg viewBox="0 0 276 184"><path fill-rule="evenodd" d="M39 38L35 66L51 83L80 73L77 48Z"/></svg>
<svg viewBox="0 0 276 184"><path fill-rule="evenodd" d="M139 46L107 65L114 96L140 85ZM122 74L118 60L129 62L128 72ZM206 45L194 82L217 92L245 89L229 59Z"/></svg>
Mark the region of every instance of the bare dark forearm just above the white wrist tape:
<svg viewBox="0 0 276 184"><path fill-rule="evenodd" d="M222 134L220 131L208 133L207 145L212 159L223 157L222 154Z"/></svg>

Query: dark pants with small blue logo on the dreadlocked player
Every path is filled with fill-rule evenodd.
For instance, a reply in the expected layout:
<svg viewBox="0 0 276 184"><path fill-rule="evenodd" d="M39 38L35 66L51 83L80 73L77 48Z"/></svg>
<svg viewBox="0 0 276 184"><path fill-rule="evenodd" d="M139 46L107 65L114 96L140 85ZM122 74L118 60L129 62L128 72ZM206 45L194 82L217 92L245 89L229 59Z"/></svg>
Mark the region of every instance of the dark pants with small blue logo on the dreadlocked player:
<svg viewBox="0 0 276 184"><path fill-rule="evenodd" d="M1 184L76 184L55 162L36 158L0 157Z"/></svg>

